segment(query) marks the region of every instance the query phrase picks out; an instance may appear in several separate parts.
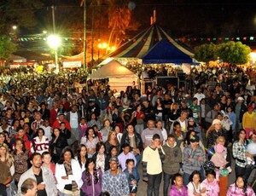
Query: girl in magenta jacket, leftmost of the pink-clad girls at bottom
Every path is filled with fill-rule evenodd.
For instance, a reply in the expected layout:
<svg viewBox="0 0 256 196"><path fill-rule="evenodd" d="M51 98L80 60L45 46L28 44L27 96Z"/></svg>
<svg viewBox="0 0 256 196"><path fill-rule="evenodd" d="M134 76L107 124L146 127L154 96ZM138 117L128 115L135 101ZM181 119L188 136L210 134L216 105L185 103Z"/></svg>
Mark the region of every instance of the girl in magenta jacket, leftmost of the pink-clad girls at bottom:
<svg viewBox="0 0 256 196"><path fill-rule="evenodd" d="M183 184L183 176L175 174L173 176L172 187L170 189L169 196L187 196L187 188Z"/></svg>

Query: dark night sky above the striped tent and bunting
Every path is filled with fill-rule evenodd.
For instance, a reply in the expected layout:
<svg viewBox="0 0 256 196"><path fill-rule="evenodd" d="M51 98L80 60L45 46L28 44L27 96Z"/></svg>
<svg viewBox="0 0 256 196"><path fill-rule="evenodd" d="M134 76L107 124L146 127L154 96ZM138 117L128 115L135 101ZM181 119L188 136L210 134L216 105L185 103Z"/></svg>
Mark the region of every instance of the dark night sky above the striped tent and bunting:
<svg viewBox="0 0 256 196"><path fill-rule="evenodd" d="M91 1L91 0L90 0ZM90 3L87 0L87 4ZM55 18L58 30L70 32L68 26L83 24L83 8L80 0L43 0L44 8L37 12L38 26L34 32L50 29L52 26L51 9L55 5ZM108 9L104 1L102 9ZM118 1L117 1L118 2ZM119 2L122 2L121 0ZM157 24L172 37L250 37L253 41L243 41L256 46L256 1L231 0L131 0L136 7L132 10L131 24L139 24L137 31L127 30L125 37L133 37L150 24L153 10L157 12ZM107 18L108 16L106 16ZM87 13L90 29L91 14ZM109 31L108 20L102 22L102 34ZM79 28L78 28L79 29ZM71 30L73 35L83 35L82 30ZM122 38L122 37L121 37ZM200 43L197 43L200 44Z"/></svg>

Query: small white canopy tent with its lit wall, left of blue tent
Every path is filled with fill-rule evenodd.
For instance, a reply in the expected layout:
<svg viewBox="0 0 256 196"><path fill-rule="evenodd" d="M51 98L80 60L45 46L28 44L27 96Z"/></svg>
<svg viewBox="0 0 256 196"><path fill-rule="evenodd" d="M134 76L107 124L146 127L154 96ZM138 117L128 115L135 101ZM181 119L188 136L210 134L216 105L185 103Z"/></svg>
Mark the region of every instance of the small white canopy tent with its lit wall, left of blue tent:
<svg viewBox="0 0 256 196"><path fill-rule="evenodd" d="M137 74L131 72L125 66L122 66L119 61L115 60L108 62L88 77L88 79L92 80L104 78L108 78L110 88L116 89L118 92L125 90L127 86L137 86L138 83Z"/></svg>

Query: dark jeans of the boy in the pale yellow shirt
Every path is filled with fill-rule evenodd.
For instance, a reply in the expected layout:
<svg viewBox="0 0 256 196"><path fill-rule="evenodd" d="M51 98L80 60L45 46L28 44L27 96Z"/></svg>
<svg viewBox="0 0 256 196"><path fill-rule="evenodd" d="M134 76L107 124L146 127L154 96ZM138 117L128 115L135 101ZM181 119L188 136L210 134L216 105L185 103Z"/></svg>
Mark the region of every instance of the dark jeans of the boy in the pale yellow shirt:
<svg viewBox="0 0 256 196"><path fill-rule="evenodd" d="M154 196L159 196L161 179L162 179L162 173L156 174L156 175L148 174L148 189L147 189L148 196L153 196L153 193L154 193Z"/></svg>

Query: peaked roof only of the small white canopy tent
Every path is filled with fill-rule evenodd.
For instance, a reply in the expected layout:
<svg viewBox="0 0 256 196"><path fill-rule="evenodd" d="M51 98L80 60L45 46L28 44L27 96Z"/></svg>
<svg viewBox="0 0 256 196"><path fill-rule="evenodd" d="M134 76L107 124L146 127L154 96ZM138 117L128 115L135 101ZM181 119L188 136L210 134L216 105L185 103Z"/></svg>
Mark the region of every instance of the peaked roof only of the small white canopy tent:
<svg viewBox="0 0 256 196"><path fill-rule="evenodd" d="M118 61L110 61L105 66L102 66L96 72L90 74L91 79L102 78L124 78L127 76L134 76L135 74L122 66Z"/></svg>

